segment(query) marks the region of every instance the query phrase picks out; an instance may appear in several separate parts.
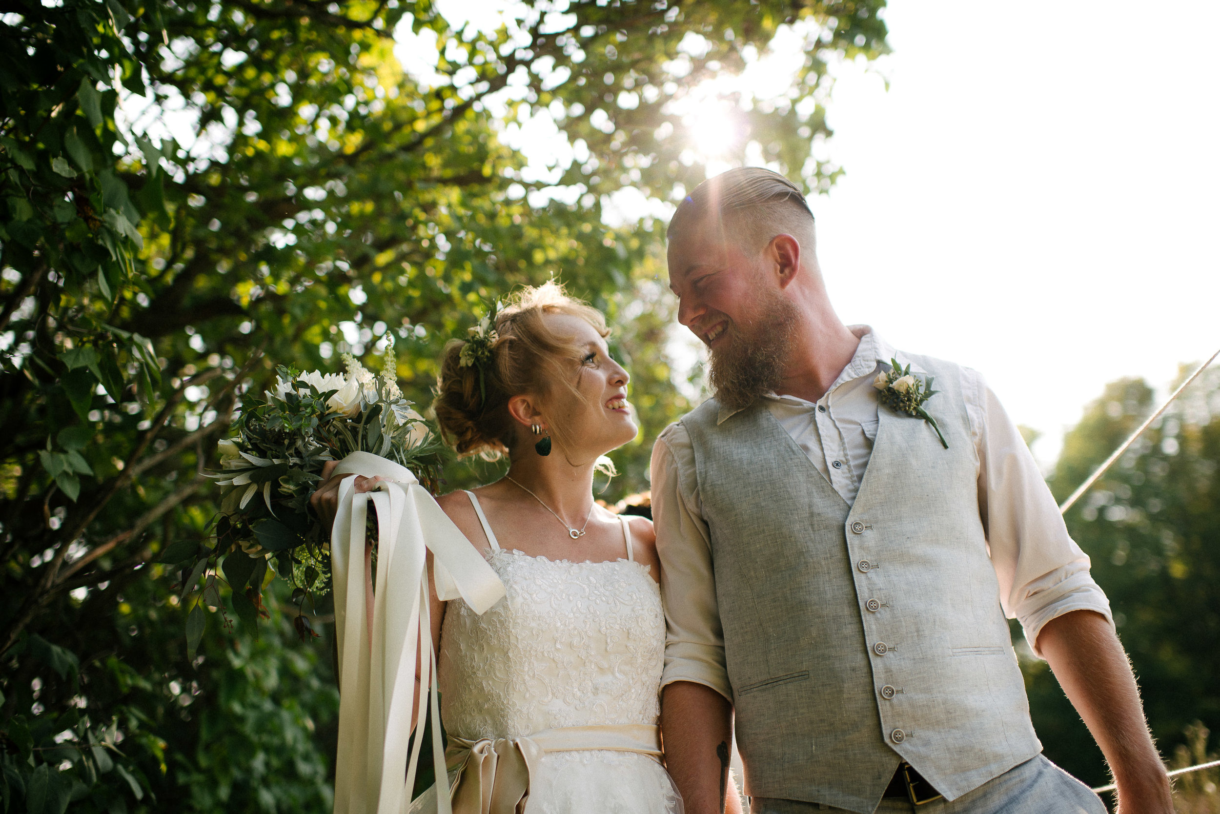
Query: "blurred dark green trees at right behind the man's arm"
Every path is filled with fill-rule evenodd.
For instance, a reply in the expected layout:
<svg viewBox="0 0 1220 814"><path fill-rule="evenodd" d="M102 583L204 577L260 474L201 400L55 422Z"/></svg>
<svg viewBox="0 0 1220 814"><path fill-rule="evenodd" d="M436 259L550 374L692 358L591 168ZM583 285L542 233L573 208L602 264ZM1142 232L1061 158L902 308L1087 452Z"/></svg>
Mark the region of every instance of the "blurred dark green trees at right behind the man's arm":
<svg viewBox="0 0 1220 814"><path fill-rule="evenodd" d="M1183 369L1183 376L1185 376ZM1060 500L1153 408L1141 380L1120 380L1064 439L1050 478ZM1163 754L1202 721L1220 726L1220 371L1204 373L1065 517L1092 560ZM1102 754L1046 669L1027 665L1035 726L1047 755L1094 786Z"/></svg>

